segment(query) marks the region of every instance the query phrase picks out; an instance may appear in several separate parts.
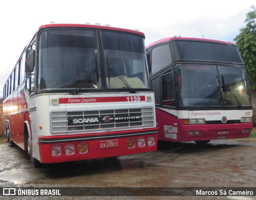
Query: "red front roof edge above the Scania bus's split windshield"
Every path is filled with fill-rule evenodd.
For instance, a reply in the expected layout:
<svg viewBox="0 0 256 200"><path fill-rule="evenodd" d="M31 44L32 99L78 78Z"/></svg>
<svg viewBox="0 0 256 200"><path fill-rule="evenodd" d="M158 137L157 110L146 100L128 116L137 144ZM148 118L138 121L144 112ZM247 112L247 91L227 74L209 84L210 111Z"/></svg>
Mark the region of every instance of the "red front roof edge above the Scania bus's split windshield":
<svg viewBox="0 0 256 200"><path fill-rule="evenodd" d="M129 32L134 34L139 34L145 37L145 34L138 31L138 30L130 30L125 28L116 28L109 25L98 25L98 24L45 24L38 28L38 30L42 28L50 28L50 27L78 27L78 28L98 28L98 29L105 29L105 30L116 30L122 32Z"/></svg>

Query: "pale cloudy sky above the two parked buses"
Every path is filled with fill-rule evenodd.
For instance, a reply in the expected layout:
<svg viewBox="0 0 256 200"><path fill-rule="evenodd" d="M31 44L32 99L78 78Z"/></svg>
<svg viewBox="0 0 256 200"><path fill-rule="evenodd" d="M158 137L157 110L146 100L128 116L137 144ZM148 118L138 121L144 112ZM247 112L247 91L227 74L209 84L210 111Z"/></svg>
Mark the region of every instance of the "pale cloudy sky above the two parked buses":
<svg viewBox="0 0 256 200"><path fill-rule="evenodd" d="M234 42L255 0L6 0L0 3L0 97L24 47L43 24L109 24L144 32L148 45L169 36Z"/></svg>

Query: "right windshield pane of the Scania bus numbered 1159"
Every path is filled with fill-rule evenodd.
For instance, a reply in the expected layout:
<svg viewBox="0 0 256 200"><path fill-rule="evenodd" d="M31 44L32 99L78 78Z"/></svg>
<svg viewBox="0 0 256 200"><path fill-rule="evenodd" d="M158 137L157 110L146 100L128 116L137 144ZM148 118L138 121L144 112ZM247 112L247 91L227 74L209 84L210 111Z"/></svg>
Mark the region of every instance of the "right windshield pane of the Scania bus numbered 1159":
<svg viewBox="0 0 256 200"><path fill-rule="evenodd" d="M107 88L149 88L144 38L113 32L102 37Z"/></svg>

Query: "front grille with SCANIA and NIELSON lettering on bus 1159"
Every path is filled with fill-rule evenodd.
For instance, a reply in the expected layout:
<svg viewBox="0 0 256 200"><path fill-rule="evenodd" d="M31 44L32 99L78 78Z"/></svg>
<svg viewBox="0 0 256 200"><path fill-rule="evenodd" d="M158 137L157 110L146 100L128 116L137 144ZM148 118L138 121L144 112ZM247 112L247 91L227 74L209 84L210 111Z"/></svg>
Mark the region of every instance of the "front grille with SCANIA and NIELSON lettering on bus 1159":
<svg viewBox="0 0 256 200"><path fill-rule="evenodd" d="M154 125L153 107L86 110L51 111L51 132L80 132L107 130Z"/></svg>

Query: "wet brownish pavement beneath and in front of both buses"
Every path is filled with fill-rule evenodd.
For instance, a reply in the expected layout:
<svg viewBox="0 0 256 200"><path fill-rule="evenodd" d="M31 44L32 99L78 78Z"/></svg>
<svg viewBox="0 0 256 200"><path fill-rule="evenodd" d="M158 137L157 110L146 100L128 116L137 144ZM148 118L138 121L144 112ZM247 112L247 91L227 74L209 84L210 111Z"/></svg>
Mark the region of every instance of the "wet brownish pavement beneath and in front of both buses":
<svg viewBox="0 0 256 200"><path fill-rule="evenodd" d="M156 152L116 159L43 164L34 168L25 152L18 147L9 147L7 139L1 137L0 187L255 187L255 150L256 138L212 140L204 146L194 142L160 142ZM151 197L170 198L199 199L198 196ZM215 196L200 199L255 198Z"/></svg>

